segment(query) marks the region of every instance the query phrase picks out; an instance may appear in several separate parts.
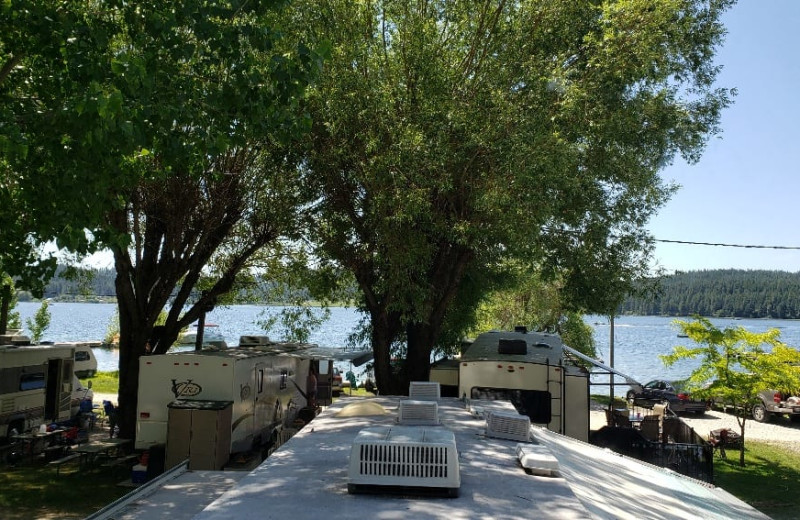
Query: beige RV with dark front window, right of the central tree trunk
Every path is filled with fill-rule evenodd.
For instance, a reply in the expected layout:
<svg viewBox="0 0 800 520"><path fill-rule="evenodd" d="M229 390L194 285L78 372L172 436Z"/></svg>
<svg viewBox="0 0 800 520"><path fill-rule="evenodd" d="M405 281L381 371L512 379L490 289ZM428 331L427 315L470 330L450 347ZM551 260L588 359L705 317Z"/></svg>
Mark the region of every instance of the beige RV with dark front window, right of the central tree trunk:
<svg viewBox="0 0 800 520"><path fill-rule="evenodd" d="M430 380L465 399L507 400L535 424L575 439L589 438L589 373L564 355L555 334L491 331L458 360L431 366Z"/></svg>

